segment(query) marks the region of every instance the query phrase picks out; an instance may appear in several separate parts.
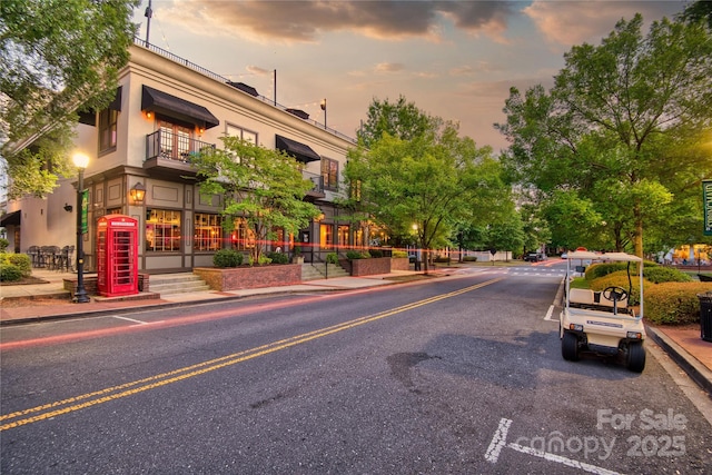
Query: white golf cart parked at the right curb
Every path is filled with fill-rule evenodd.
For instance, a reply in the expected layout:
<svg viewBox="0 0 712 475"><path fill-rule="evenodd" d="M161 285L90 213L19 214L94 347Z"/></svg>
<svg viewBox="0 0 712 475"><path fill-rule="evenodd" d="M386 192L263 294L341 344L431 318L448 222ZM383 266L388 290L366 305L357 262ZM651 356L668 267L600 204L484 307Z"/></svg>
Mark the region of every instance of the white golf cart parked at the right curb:
<svg viewBox="0 0 712 475"><path fill-rule="evenodd" d="M575 250L564 257L566 263L565 305L560 317L561 354L575 362L583 353L606 357L622 357L626 367L641 373L645 367L645 327L643 326L642 259L624 253L599 254ZM603 291L571 288L576 273L590 263L629 263L629 289L607 287ZM631 267L640 263L639 314L629 306L632 289Z"/></svg>

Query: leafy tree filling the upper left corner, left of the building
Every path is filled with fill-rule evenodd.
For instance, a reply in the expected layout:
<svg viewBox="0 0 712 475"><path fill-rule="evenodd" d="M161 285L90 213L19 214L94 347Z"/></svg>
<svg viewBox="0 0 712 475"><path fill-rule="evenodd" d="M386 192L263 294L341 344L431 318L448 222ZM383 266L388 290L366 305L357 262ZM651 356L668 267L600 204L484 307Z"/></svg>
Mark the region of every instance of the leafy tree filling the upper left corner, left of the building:
<svg viewBox="0 0 712 475"><path fill-rule="evenodd" d="M8 196L44 196L68 162L78 111L109 105L139 0L0 1L0 154Z"/></svg>

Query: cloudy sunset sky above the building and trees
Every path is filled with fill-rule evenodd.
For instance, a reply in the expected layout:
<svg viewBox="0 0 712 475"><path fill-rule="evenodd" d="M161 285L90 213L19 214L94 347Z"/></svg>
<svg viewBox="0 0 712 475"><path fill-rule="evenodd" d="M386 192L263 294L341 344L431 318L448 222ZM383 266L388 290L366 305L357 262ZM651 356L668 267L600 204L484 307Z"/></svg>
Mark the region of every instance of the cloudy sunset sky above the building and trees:
<svg viewBox="0 0 712 475"><path fill-rule="evenodd" d="M400 96L459 123L461 136L507 142L494 128L510 88L546 89L573 46L600 44L640 12L645 30L682 11L670 1L151 0L149 42L349 137L374 99ZM138 36L147 37L137 8ZM276 72L275 72L276 71ZM275 87L276 77L276 87Z"/></svg>

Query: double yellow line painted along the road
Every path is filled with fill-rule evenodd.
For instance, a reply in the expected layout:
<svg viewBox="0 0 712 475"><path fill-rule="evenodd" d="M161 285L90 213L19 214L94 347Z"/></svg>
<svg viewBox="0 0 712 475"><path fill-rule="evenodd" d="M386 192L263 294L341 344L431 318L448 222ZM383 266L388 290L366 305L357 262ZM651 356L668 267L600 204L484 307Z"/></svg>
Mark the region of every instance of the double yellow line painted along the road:
<svg viewBox="0 0 712 475"><path fill-rule="evenodd" d="M360 325L365 325L372 321L379 320L396 314L400 314L413 308L422 307L424 305L434 304L436 301L456 297L462 294L466 294L472 290L485 287L494 284L502 278L492 279L482 284L476 284L459 290L451 291L447 294L441 294L435 297L418 300L413 304L403 305L389 310L382 311L375 315L367 315L356 318L354 320L345 321L338 325L334 325L318 330L308 331L301 335L293 336L289 338L280 339L269 343L267 345L258 346L255 348L246 349L244 352L234 353L231 355L221 356L219 358L210 359L207 362L198 363L196 365L186 366L184 368L174 369L172 372L162 373L155 376L149 376L144 379L138 379L130 383L125 383L118 386L107 387L93 393L82 394L80 396L69 397L67 399L57 400L55 403L44 404L29 409L18 410L10 414L0 415L0 432L8 431L14 427L32 424L39 420L49 419L60 416L62 414L73 413L85 409L87 407L97 406L99 404L108 403L110 400L120 399L122 397L132 396L138 393L155 389L157 387L167 386L172 383L178 383L184 379L188 379L195 376L199 376L206 373L215 372L217 369L225 368L227 366L237 365L238 363L247 362L249 359L257 358L259 356L268 355L270 353L279 352L280 349L289 348L303 343L312 342L317 338L322 338L338 331L344 331L349 328L355 328Z"/></svg>

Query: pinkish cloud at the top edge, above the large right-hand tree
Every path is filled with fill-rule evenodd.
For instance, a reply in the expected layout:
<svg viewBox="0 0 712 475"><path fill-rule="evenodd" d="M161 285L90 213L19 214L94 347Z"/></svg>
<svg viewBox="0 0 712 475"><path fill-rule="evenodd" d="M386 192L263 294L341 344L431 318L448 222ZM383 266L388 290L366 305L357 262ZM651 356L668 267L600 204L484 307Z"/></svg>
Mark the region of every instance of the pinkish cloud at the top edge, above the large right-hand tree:
<svg viewBox="0 0 712 475"><path fill-rule="evenodd" d="M535 0L522 12L534 21L547 42L571 47L583 42L597 44L619 20L631 20L636 12L643 19L657 19L680 9L678 2Z"/></svg>

